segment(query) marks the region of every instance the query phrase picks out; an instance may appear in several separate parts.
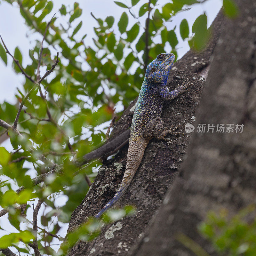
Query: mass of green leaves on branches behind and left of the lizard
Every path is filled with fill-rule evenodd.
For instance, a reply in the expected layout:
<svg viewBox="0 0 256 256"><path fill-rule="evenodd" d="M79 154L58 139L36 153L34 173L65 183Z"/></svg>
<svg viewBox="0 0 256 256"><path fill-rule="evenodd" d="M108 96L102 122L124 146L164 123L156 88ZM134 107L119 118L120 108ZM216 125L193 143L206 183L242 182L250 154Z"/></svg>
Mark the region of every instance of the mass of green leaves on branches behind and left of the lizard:
<svg viewBox="0 0 256 256"><path fill-rule="evenodd" d="M82 202L89 189L84 176L87 175L93 181L95 173L92 169L100 166L100 162L96 161L89 163L82 171L79 170L70 161L74 152L78 152L78 156L83 156L105 142L103 130L108 127L114 116L121 115L120 109L127 107L138 95L149 61L155 59L157 54L165 52L168 45L171 52L177 56L177 30L167 29L165 22L170 21L178 12L183 12L185 7L199 2L173 0L164 6L159 6L156 0L145 4L140 4L140 0L132 0L130 5L115 2L124 10L120 19L115 20L113 16L102 19L92 14L98 24L94 28L92 46L85 44L86 34L81 35L81 28L86 30L88 24L83 24L83 12L78 3L75 2L71 7L60 6L55 17L62 16L66 23L59 23L54 17L49 29L46 29L53 14L53 1L4 1L13 6L18 5L31 33L40 35L40 40L37 39L34 47L28 49L28 65L25 66L23 63L19 46L12 53L25 73L31 77L25 78L23 89L18 90L18 103L34 86L31 80L37 80L44 33L42 59L39 65L41 73L42 69L52 68L56 52L60 52L60 62L53 75L44 79L41 85L31 92L25 102L24 111L21 111L18 130L23 136L22 141L12 132L8 132L12 147L16 151L8 152L0 147L0 205L8 208L8 220L18 232L8 235L8 244L4 246L12 245L22 253L31 253L31 248L27 244L28 240L32 239L31 223L27 222L24 216L31 211L31 202L36 198L44 198L38 245L42 253L52 255L51 245L56 243L56 234L64 223L69 222L72 211ZM225 12L229 16L234 16L236 7L233 2L229 0L224 3ZM139 6L137 14L133 12L135 5ZM132 26L128 26L131 22ZM118 31L113 28L115 23ZM209 37L206 25L205 14L196 19L192 31L189 30L187 20L183 19L179 27L181 38L188 40L189 45L195 50L202 50ZM160 43L155 43L157 37L161 37ZM8 47L8 42L5 44ZM0 58L5 64L11 60L7 60L2 43ZM21 73L15 61L12 66L16 73ZM119 110L116 111L116 108ZM7 101L0 105L1 119L5 122L12 125L16 114L16 105ZM0 127L0 134L3 132L4 128ZM44 183L33 186L31 176L49 172L49 168L38 160L38 154L28 150L32 144L37 152L44 154L54 163L63 164L62 175L52 175ZM25 189L17 194L15 186L24 186ZM64 200L64 197L67 200L66 204L58 206L56 200ZM27 202L23 216L20 206ZM23 221L27 223L27 231L22 230ZM80 234L85 232L86 227L85 225L79 229ZM1 239L4 239L4 236Z"/></svg>

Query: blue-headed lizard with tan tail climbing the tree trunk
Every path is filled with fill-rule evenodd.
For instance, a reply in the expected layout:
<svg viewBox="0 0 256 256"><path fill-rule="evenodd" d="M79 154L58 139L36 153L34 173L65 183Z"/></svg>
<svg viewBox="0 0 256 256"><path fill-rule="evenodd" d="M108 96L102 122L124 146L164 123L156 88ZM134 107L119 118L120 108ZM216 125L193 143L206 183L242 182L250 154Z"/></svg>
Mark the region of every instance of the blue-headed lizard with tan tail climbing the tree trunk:
<svg viewBox="0 0 256 256"><path fill-rule="evenodd" d="M176 98L181 93L190 90L188 87L192 85L190 82L187 84L183 82L181 86L178 84L176 90L169 91L166 83L174 60L173 53L160 53L147 66L132 117L124 177L114 197L95 215L96 218L99 218L124 195L140 166L144 151L151 139L155 137L158 140L169 141L169 138L165 138L167 134L184 135L182 132L175 132L180 124L176 127L171 125L170 129L164 128L163 119L160 117L164 100Z"/></svg>

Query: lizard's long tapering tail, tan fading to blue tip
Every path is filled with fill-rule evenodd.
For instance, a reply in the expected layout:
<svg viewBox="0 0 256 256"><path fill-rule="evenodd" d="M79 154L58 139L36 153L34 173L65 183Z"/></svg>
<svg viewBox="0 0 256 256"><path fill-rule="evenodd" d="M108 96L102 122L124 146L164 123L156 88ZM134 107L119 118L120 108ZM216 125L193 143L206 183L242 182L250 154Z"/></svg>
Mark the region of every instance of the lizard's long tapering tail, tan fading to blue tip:
<svg viewBox="0 0 256 256"><path fill-rule="evenodd" d="M144 142L144 141L143 141ZM99 218L100 215L107 211L111 206L113 206L126 192L127 188L129 187L132 179L140 166L140 162L142 160L145 148L147 143L138 143L138 142L131 142L128 149L127 154L127 163L126 169L124 172L124 177L121 182L120 188L116 192L115 196L106 204L100 212L95 215L95 218Z"/></svg>

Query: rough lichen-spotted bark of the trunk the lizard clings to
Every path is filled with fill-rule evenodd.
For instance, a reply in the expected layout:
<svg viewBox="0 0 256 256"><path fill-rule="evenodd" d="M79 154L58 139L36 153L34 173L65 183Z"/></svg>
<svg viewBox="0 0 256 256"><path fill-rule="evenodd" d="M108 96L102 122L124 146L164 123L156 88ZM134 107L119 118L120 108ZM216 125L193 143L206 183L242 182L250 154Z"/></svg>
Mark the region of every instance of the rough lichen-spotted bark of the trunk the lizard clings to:
<svg viewBox="0 0 256 256"><path fill-rule="evenodd" d="M181 124L184 131L186 123L194 124L196 108L205 82L204 78L196 73L203 72L209 64L218 40L221 20L220 14L213 25L211 43L204 52L196 54L189 51L175 63L167 83L169 89L176 88L182 81L191 81L194 85L189 93L164 104L161 116L164 126ZM176 70L177 68L183 70ZM124 132L131 125L135 102L136 100L124 111L124 115L117 122L112 131L113 137ZM117 204L120 207L127 204L135 205L138 212L103 227L100 236L92 242L78 242L70 250L69 255L128 255L131 246L143 236L152 215L160 207L167 189L177 176L188 148L189 137L190 135L187 134L184 139L173 138L172 143L168 144L155 139L151 140L131 185ZM104 161L88 194L73 212L68 232L78 227L88 216L95 215L116 193L124 174L127 149L128 145L113 159Z"/></svg>

